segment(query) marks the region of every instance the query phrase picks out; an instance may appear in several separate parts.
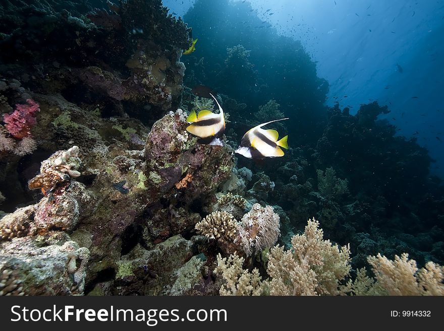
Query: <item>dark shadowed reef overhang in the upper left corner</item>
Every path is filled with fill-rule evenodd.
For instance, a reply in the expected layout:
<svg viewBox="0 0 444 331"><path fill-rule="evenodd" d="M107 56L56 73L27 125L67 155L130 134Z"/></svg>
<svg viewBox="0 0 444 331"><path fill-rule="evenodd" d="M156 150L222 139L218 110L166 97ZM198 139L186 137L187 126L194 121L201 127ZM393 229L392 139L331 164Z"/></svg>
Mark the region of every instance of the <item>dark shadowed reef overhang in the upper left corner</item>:
<svg viewBox="0 0 444 331"><path fill-rule="evenodd" d="M35 62L45 74L28 75L22 83L36 92L74 101L87 89L93 98L112 98L117 108L133 113L147 103L162 110L177 106L184 76L179 57L191 43L189 29L160 0L130 0L116 8L93 11L83 4L73 10L63 2L2 7L6 17L16 17L1 30L0 49L11 50L2 52L3 63L15 65L8 76L20 77Z"/></svg>

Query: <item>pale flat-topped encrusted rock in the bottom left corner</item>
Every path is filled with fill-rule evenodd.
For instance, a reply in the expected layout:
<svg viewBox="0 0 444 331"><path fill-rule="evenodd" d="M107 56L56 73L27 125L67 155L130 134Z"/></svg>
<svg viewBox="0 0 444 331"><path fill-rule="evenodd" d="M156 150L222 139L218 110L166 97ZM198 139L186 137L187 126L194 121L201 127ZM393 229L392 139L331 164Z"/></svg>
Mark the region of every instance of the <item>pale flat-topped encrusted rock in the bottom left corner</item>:
<svg viewBox="0 0 444 331"><path fill-rule="evenodd" d="M89 250L60 237L54 234L46 242L24 237L1 243L0 295L83 294Z"/></svg>

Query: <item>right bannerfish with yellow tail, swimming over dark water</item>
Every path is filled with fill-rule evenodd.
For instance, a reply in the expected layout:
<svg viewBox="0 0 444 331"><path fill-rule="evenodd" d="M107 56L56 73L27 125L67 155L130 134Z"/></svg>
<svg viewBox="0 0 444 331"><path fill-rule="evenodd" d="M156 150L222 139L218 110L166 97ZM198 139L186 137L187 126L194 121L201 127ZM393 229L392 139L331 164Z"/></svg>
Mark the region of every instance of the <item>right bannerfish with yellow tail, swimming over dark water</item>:
<svg viewBox="0 0 444 331"><path fill-rule="evenodd" d="M288 149L288 136L285 136L278 141L278 131L273 129L264 130L262 126L285 119L288 118L276 119L262 123L248 130L244 137L242 137L241 145L235 151L235 153L243 155L249 159L259 160L284 156L284 151L281 149L281 147Z"/></svg>

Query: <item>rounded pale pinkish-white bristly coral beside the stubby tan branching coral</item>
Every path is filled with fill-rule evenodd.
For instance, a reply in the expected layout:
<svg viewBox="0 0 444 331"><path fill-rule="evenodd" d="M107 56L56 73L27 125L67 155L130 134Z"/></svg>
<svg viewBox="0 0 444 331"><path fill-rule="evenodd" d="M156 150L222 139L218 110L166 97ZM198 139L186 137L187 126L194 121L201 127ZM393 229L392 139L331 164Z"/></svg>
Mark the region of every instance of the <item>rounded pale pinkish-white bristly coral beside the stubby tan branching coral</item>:
<svg viewBox="0 0 444 331"><path fill-rule="evenodd" d="M242 217L240 241L247 256L254 250L261 251L273 246L281 235L279 215L273 207L261 207L254 204L251 210Z"/></svg>

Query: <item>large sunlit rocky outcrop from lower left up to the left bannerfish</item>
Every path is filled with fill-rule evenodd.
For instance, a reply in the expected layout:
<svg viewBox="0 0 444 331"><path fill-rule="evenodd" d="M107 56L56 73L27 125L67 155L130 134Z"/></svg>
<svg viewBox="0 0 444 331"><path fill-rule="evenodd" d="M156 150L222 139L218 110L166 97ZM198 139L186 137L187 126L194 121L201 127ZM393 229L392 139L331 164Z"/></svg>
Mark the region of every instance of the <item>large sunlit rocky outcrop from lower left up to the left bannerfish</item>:
<svg viewBox="0 0 444 331"><path fill-rule="evenodd" d="M153 125L144 150L127 150L119 143L96 144L91 150L74 146L42 162L40 174L29 181L30 188L42 191L40 202L0 220L0 255L5 257L6 266L2 271L7 270L9 275L11 266L17 264L11 262L15 258L21 264L11 275L18 279L27 275L29 279L20 280L20 293L81 294L85 282L101 283L103 275L112 279L117 275L128 282L122 276L123 266L128 263L125 261L134 259L147 261L148 279L157 279L158 272L170 272L169 282L174 285L176 269L165 268L165 258L158 254L176 256L178 266L191 259L196 244L180 234L194 229L201 219L201 206L225 183L233 168L230 147L201 145L188 136L186 125L179 110ZM191 208L193 203L195 211ZM176 243L170 246L172 241ZM176 244L180 254L168 252L166 247ZM18 246L22 248L16 249ZM46 264L48 271L28 273L32 263L38 263L38 259L31 261L27 257L32 256L33 250L44 259L50 259L45 254L54 256L61 274L51 274L50 264ZM76 262L71 262L70 256L78 262L78 256L83 256L78 267L81 272L71 283L68 276L75 274L77 267L72 266ZM143 266L140 268L143 271ZM64 286L48 286L51 292L44 292L38 285L43 281ZM146 280L146 285L151 281ZM75 284L75 291L67 290L68 285L71 288ZM138 293L154 294L152 287L148 288L148 292ZM123 294L129 290L121 291Z"/></svg>

